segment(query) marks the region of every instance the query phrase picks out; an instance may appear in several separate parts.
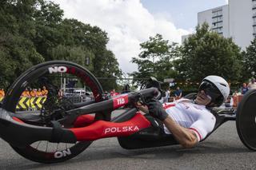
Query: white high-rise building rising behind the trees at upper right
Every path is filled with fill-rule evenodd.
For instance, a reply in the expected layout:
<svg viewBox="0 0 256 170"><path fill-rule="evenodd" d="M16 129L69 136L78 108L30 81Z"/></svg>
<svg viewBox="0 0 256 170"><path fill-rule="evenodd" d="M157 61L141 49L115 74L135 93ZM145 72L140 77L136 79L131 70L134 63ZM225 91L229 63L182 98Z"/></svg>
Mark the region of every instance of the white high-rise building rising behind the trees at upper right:
<svg viewBox="0 0 256 170"><path fill-rule="evenodd" d="M232 38L246 49L256 35L256 0L229 0L226 6L198 13L198 24L207 22L211 30ZM182 37L182 42L187 35Z"/></svg>

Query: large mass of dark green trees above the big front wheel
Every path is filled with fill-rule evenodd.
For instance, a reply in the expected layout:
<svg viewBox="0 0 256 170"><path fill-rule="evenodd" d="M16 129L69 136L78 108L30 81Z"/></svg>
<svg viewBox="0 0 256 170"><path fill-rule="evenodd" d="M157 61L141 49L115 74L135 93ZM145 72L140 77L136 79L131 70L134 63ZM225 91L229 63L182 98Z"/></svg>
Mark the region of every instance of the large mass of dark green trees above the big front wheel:
<svg viewBox="0 0 256 170"><path fill-rule="evenodd" d="M30 66L50 60L74 61L96 77L118 77L122 72L114 53L106 49L108 41L106 32L97 26L63 19L63 10L54 2L3 0L0 81L9 85ZM113 81L102 83L104 89L116 85Z"/></svg>

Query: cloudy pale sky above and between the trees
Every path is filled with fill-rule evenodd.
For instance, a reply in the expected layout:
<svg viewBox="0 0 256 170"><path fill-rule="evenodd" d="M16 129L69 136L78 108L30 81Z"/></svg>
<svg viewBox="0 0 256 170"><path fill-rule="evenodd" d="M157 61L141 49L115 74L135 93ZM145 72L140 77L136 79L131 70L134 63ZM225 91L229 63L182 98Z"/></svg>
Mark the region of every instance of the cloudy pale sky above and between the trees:
<svg viewBox="0 0 256 170"><path fill-rule="evenodd" d="M137 71L131 63L140 43L155 34L169 42L182 42L197 26L198 12L227 4L227 0L52 0L64 10L64 18L98 26L106 31L110 49L124 73Z"/></svg>

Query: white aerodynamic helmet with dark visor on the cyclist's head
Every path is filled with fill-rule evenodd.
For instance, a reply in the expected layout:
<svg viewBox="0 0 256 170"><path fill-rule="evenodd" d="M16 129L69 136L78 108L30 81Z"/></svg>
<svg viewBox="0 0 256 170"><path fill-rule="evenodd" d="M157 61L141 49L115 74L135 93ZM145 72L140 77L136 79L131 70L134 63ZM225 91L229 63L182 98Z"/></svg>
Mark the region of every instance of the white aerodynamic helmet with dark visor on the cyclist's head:
<svg viewBox="0 0 256 170"><path fill-rule="evenodd" d="M202 80L199 90L204 90L211 97L214 106L220 106L230 94L230 85L219 76L207 76Z"/></svg>

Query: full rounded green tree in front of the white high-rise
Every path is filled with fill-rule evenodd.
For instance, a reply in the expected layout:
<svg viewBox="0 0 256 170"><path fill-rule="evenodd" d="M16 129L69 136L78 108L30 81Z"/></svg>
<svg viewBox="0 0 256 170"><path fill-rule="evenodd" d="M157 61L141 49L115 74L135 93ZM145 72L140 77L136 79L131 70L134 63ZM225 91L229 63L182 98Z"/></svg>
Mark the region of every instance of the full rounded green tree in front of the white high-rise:
<svg viewBox="0 0 256 170"><path fill-rule="evenodd" d="M240 48L231 38L210 31L206 23L196 27L196 33L184 42L181 52L182 57L175 61L175 68L179 77L185 80L201 81L211 74L228 81L237 81L241 77Z"/></svg>

